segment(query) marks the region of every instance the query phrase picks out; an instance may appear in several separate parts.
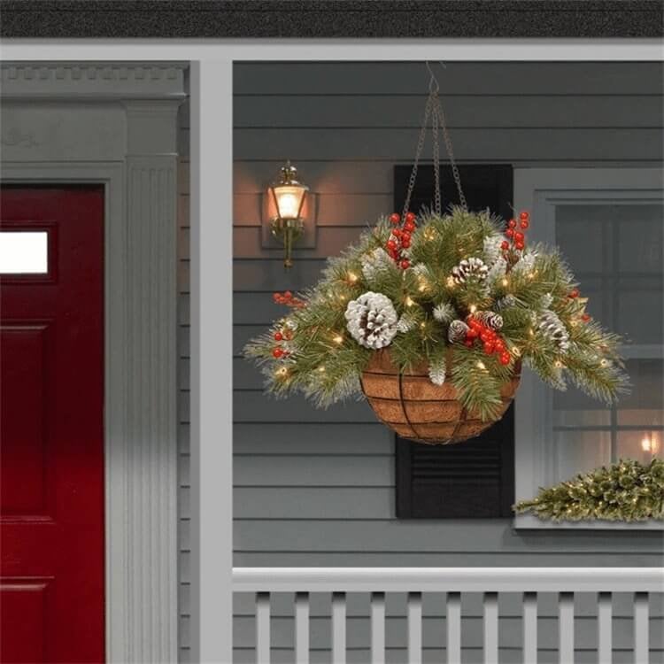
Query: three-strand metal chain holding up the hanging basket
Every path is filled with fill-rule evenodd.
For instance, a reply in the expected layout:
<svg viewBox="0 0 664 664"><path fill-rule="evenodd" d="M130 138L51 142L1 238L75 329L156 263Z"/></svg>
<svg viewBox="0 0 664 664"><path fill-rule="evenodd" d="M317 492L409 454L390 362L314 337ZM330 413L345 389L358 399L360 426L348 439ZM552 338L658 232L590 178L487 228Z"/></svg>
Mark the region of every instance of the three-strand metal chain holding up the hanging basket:
<svg viewBox="0 0 664 664"><path fill-rule="evenodd" d="M433 138L433 163L434 163L434 209L438 216L442 212L442 194L440 187L440 144L438 140L438 129L442 127L443 129L443 139L445 143L445 150L447 151L448 157L450 158L450 165L452 166L452 175L454 181L457 185L457 191L459 192L459 202L464 210L467 211L466 197L464 196L463 189L461 189L461 178L459 177L459 168L457 167L456 162L454 161L454 151L452 150L452 140L450 138L449 132L447 130L447 125L445 123L445 114L443 111L443 106L440 103L440 98L438 97L438 91L440 86L438 85L438 80L434 75L429 62L426 63L427 69L431 74L429 79L429 97L427 97L427 104L424 107L424 118L422 120L422 125L420 129L420 136L417 142L417 149L415 150L415 158L413 160L413 169L411 171L411 176L408 181L408 189L405 194L404 209L401 212L402 219L405 219L405 214L408 212L410 206L411 197L413 196L413 189L415 188L415 180L417 178L417 169L420 164L420 158L422 150L424 149L424 141L427 135L427 124L429 122L429 115L431 116L431 134Z"/></svg>

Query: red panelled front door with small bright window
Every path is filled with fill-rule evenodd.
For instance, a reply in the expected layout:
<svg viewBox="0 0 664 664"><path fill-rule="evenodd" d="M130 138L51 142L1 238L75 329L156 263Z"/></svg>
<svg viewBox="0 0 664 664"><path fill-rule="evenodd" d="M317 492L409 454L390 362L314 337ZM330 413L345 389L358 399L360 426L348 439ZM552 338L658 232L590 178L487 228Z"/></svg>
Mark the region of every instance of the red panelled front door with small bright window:
<svg viewBox="0 0 664 664"><path fill-rule="evenodd" d="M0 204L0 661L101 662L104 193Z"/></svg>

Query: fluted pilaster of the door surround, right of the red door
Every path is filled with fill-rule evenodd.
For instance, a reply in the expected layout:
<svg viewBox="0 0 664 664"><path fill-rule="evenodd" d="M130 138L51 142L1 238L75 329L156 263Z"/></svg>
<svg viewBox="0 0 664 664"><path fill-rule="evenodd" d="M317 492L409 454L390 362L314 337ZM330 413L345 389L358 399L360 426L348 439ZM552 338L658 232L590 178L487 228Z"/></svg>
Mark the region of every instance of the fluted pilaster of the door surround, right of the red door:
<svg viewBox="0 0 664 664"><path fill-rule="evenodd" d="M179 101L126 102L128 660L177 659ZM144 519L150 514L149 520Z"/></svg>

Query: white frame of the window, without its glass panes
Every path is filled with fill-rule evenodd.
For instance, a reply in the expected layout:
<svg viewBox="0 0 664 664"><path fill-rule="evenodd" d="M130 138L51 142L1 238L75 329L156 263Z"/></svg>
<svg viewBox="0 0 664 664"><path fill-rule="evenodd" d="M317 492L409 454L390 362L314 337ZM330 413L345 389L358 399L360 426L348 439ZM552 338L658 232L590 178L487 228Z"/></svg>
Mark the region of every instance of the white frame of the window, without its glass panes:
<svg viewBox="0 0 664 664"><path fill-rule="evenodd" d="M531 211L531 241L555 244L555 207L563 203L661 203L664 170L660 168L515 168L514 209ZM627 358L662 357L662 345L624 349ZM535 374L522 374L515 399L514 477L516 500L533 498L552 483L553 393ZM622 523L577 521L553 523L518 514L517 529L662 530L662 521Z"/></svg>

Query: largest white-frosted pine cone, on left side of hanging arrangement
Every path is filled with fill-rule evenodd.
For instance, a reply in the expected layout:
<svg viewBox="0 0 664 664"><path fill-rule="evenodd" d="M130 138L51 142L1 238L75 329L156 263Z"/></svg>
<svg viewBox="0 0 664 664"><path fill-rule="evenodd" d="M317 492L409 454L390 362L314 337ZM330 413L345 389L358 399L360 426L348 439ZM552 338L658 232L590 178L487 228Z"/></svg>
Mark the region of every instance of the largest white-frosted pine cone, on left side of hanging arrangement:
<svg viewBox="0 0 664 664"><path fill-rule="evenodd" d="M352 338L365 348L384 348L397 334L397 312L382 293L369 291L351 300L345 317Z"/></svg>

